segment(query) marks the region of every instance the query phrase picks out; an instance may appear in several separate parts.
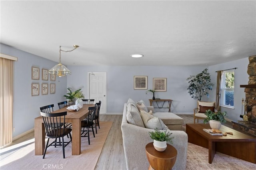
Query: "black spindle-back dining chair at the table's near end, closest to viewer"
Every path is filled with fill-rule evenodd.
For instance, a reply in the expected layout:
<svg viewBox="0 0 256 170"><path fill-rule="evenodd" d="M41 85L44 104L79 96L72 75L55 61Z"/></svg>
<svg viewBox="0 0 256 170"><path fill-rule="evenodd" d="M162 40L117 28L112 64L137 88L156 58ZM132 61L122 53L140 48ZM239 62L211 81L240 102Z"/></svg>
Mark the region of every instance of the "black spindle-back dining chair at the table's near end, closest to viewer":
<svg viewBox="0 0 256 170"><path fill-rule="evenodd" d="M46 150L48 147L50 146L62 146L62 152L63 152L63 158L65 158L65 147L72 141L72 137L71 137L71 128L66 128L65 126L65 116L67 115L67 112L60 112L60 113L44 113L42 111L40 111L40 115L42 116L42 119L44 121L44 127L46 129L46 137L48 138L45 149L44 149L44 155L43 155L43 159L45 157L46 154ZM63 122L63 126L58 126L61 122L61 118L63 118L64 116L64 121ZM70 141L68 142L64 142L64 136L70 136ZM49 143L50 139L55 139L52 143ZM62 141L59 140L59 142L57 142L57 138L62 138Z"/></svg>

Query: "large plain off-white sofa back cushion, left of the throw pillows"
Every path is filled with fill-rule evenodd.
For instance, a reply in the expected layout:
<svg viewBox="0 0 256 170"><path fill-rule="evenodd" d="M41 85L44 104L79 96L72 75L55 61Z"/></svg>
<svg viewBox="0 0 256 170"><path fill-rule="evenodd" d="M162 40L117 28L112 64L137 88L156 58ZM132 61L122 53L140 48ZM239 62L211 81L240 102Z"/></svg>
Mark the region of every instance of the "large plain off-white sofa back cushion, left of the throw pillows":
<svg viewBox="0 0 256 170"><path fill-rule="evenodd" d="M127 103L127 113L126 113L126 119L128 123L140 127L145 127L140 112L137 108L137 106L133 103Z"/></svg>

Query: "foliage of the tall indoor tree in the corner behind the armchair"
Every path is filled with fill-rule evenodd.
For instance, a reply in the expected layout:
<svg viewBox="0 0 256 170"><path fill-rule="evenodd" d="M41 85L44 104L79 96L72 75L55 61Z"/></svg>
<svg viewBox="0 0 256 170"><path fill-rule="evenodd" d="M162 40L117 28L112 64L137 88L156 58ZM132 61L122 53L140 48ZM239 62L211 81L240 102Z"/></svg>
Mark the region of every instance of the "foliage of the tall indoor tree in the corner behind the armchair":
<svg viewBox="0 0 256 170"><path fill-rule="evenodd" d="M195 76L189 76L186 80L190 83L187 90L191 98L199 101L201 101L204 95L209 97L206 90L212 90L212 86L214 86L214 84L211 83L210 73L208 73L207 68Z"/></svg>

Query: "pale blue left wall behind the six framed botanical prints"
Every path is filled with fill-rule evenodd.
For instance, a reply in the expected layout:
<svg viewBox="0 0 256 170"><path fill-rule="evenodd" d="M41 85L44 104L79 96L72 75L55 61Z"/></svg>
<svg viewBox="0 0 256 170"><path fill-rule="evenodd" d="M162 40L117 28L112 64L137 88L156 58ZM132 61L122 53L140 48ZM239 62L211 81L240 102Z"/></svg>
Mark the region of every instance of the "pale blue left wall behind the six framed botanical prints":
<svg viewBox="0 0 256 170"><path fill-rule="evenodd" d="M58 108L58 102L66 100L63 95L66 93L66 77L56 78L56 81L42 80L42 68L50 69L56 62L42 57L14 49L10 46L0 44L1 53L18 57L14 62L14 101L13 101L13 127L15 131L12 137L16 137L34 128L34 118L40 116L40 107L54 104L54 110ZM58 56L56 56L58 57ZM40 68L40 80L31 79L31 67ZM40 84L39 96L31 96L31 83ZM42 83L55 83L55 94L42 95Z"/></svg>

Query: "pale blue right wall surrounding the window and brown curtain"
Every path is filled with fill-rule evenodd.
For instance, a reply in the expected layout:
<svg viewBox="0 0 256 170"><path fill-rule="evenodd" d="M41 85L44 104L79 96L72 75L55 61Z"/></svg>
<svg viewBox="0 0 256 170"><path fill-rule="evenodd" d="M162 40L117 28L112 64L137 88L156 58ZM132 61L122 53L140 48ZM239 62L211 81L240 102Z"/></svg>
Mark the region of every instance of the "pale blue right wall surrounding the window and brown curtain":
<svg viewBox="0 0 256 170"><path fill-rule="evenodd" d="M249 57L249 56L248 56ZM226 70L230 68L237 67L235 72L235 85L234 85L234 109L221 107L221 111L226 111L228 113L228 119L237 121L242 120L239 115L242 111L242 98L245 98L244 88L240 88L241 84L248 84L249 75L247 74L247 66L249 64L248 57L236 61L230 61L227 63L217 64L214 66L209 66L209 73L211 74L212 82L216 84L218 70ZM215 101L216 85L214 89L210 92L210 101Z"/></svg>

